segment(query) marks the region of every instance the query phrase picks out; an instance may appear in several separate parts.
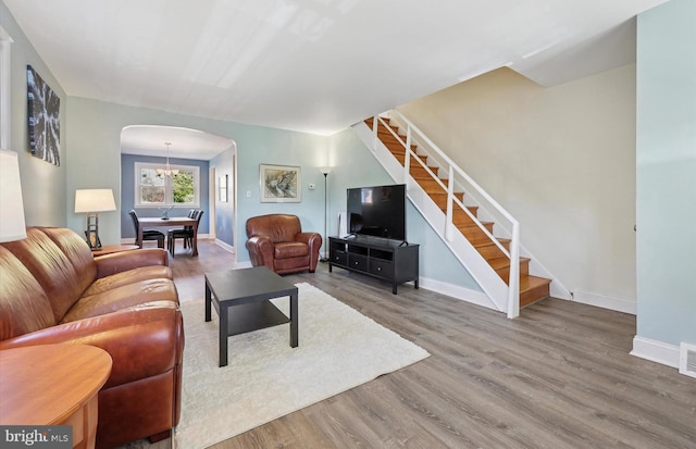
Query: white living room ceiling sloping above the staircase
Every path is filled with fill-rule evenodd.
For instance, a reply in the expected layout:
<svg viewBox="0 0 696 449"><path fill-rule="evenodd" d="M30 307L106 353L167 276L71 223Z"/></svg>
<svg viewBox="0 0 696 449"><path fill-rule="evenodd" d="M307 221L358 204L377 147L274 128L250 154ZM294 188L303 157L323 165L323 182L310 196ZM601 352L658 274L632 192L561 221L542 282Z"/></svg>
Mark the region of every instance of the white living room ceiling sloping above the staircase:
<svg viewBox="0 0 696 449"><path fill-rule="evenodd" d="M666 0L2 1L69 96L331 135L501 66L633 62Z"/></svg>

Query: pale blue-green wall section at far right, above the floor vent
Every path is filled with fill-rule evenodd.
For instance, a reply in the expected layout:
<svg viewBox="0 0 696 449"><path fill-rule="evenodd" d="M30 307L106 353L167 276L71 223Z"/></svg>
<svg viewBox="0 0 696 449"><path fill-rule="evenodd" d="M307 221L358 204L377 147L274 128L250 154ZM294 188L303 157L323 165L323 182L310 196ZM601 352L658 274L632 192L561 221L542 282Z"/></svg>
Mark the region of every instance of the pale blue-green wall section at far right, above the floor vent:
<svg viewBox="0 0 696 449"><path fill-rule="evenodd" d="M696 2L638 16L637 335L696 344Z"/></svg>

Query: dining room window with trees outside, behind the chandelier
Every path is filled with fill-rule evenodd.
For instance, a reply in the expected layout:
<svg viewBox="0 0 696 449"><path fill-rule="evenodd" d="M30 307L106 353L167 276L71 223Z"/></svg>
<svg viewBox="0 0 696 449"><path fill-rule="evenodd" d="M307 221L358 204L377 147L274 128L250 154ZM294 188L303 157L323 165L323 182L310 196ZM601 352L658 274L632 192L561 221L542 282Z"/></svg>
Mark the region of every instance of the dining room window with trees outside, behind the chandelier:
<svg viewBox="0 0 696 449"><path fill-rule="evenodd" d="M200 207L200 169L191 165L172 165L178 170L174 176L158 175L162 164L135 163L135 201L138 208Z"/></svg>

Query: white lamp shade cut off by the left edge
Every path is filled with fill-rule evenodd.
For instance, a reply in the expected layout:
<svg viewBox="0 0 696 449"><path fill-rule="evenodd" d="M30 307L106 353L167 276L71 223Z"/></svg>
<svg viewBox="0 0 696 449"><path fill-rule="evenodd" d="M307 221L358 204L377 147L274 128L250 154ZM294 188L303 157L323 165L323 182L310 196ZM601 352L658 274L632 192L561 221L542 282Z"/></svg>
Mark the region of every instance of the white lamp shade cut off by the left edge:
<svg viewBox="0 0 696 449"><path fill-rule="evenodd" d="M26 238L17 153L0 150L0 241Z"/></svg>

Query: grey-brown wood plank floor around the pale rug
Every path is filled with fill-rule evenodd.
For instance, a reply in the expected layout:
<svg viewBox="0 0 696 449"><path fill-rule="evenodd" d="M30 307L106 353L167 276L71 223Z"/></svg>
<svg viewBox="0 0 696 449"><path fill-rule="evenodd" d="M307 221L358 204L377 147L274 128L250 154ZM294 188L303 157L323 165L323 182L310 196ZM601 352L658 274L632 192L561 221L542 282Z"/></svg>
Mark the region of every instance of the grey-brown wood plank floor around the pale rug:
<svg viewBox="0 0 696 449"><path fill-rule="evenodd" d="M183 301L233 255L172 259ZM517 320L348 273L286 276L432 356L213 448L696 448L696 379L629 354L635 316L559 299Z"/></svg>

